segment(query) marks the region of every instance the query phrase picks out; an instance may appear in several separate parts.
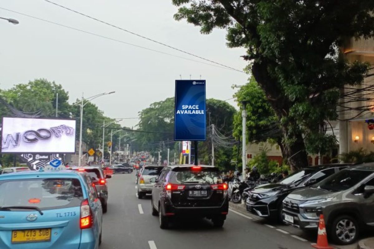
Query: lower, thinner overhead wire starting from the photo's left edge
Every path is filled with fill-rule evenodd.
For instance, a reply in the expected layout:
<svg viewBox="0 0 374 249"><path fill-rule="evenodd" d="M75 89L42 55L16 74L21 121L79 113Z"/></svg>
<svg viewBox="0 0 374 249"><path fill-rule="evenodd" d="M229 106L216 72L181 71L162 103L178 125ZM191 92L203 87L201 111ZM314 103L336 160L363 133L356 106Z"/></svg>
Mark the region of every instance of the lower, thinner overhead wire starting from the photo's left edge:
<svg viewBox="0 0 374 249"><path fill-rule="evenodd" d="M67 26L67 25L64 25L64 24L59 24L58 22L53 22L53 21L49 21L49 20L46 20L46 19L38 18L36 16L27 15L25 13L17 12L15 10L5 9L3 7L0 7L0 9L7 10L9 12L13 12L13 13L16 13L16 14L19 14L19 15L27 16L27 17L30 17L30 18L33 18L33 19L36 19L36 20L39 20L39 21L48 22L50 24L55 24L55 25L58 25L58 26L61 26L61 27L64 27L64 28L69 28L69 29L73 29L75 31L86 33L86 34L95 35L97 37L105 38L105 39L108 39L108 40L111 40L111 41L116 41L116 42L127 44L127 45L130 45L130 46L138 47L140 49L146 49L148 51L152 51L152 52L156 52L156 53L161 53L163 55L169 55L169 56L177 57L177 58L184 59L184 60L190 60L190 61L193 61L193 62L202 63L202 64L209 65L209 66L215 66L217 68L223 68L223 69L233 70L233 69L230 69L230 68L227 68L227 67L218 66L218 65L214 65L214 64L202 62L202 61L199 61L199 60L194 60L194 59L190 59L190 58L178 56L178 55L173 55L173 54L162 52L162 51L159 51L159 50L150 49L148 47L143 47L143 46L139 46L139 45L136 45L136 44L128 43L126 41L117 40L117 39L114 39L114 38L107 37L105 35L100 35L100 34L92 33L92 32L89 32L89 31L85 31L83 29L74 28L74 27Z"/></svg>

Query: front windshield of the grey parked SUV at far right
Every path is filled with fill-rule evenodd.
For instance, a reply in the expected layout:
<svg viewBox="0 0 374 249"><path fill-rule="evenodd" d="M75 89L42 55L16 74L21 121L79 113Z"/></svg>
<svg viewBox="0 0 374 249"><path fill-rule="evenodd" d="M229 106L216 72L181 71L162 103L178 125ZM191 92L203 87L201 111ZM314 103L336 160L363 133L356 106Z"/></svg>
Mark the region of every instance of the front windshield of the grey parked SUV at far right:
<svg viewBox="0 0 374 249"><path fill-rule="evenodd" d="M335 175L332 175L331 177L322 181L319 184L319 188L329 191L347 190L371 174L373 174L373 171L343 169L342 171L339 171Z"/></svg>

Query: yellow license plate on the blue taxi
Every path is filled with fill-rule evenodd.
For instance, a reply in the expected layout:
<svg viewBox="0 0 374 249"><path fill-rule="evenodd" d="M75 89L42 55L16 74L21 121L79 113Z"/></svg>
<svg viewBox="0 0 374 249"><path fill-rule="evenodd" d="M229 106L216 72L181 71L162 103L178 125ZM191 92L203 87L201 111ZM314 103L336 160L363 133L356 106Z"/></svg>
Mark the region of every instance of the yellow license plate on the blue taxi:
<svg viewBox="0 0 374 249"><path fill-rule="evenodd" d="M51 228L13 230L12 243L28 243L50 241Z"/></svg>

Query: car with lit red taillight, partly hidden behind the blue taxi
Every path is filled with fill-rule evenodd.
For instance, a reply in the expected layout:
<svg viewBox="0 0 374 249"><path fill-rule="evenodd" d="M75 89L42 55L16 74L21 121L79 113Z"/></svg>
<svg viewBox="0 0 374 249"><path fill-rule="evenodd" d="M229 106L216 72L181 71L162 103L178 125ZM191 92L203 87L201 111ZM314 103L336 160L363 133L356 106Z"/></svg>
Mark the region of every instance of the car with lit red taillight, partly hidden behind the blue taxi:
<svg viewBox="0 0 374 249"><path fill-rule="evenodd" d="M85 166L85 167L70 167L71 170L86 172L95 184L99 199L101 201L102 212L106 213L108 210L108 186L105 179L111 178L110 175L104 175L100 165Z"/></svg>

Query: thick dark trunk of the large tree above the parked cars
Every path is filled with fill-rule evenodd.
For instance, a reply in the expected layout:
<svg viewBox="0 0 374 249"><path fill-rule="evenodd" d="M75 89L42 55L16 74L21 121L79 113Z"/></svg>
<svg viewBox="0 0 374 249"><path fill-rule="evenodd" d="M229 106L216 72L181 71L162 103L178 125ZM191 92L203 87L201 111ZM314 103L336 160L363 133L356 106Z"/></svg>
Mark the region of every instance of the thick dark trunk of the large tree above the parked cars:
<svg viewBox="0 0 374 249"><path fill-rule="evenodd" d="M288 116L292 103L282 93L280 84L270 77L267 66L266 60L255 61L252 66L252 74L264 90L278 119L285 118L287 120L281 123L283 137L278 143L280 142L283 159L288 162L292 171L297 171L309 165L303 134L298 129L296 122Z"/></svg>

